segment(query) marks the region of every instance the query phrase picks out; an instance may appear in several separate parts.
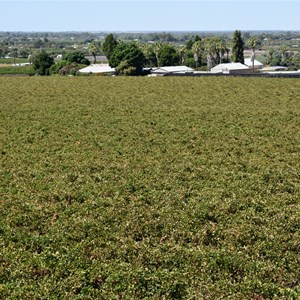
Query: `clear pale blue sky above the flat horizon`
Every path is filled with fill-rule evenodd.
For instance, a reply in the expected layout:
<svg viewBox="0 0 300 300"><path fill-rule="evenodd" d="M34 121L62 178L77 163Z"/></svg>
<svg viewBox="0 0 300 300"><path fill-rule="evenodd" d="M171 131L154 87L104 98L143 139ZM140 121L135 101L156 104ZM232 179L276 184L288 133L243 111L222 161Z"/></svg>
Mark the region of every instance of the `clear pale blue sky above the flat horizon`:
<svg viewBox="0 0 300 300"><path fill-rule="evenodd" d="M300 0L0 0L0 31L300 30Z"/></svg>

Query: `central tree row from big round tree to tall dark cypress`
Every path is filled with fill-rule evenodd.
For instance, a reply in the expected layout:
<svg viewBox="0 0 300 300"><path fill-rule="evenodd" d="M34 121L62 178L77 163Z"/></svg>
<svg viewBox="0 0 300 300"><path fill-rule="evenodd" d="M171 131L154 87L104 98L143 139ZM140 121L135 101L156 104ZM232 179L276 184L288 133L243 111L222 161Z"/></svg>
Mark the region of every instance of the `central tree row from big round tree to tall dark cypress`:
<svg viewBox="0 0 300 300"><path fill-rule="evenodd" d="M143 67L161 67L186 65L193 68L205 67L210 70L222 62L244 62L244 41L240 31L232 39L232 57L229 57L230 45L220 37L198 35L185 45L175 47L171 43L124 43L116 40L113 34L106 36L102 50L111 67L118 73L139 75Z"/></svg>

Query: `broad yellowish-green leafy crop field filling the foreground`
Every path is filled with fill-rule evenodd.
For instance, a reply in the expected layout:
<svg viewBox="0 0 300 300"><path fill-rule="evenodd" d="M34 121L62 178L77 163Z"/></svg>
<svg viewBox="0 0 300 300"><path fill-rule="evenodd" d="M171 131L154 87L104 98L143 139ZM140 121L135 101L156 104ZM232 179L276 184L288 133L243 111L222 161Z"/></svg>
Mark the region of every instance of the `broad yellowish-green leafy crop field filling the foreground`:
<svg viewBox="0 0 300 300"><path fill-rule="evenodd" d="M299 79L0 91L0 299L299 299Z"/></svg>

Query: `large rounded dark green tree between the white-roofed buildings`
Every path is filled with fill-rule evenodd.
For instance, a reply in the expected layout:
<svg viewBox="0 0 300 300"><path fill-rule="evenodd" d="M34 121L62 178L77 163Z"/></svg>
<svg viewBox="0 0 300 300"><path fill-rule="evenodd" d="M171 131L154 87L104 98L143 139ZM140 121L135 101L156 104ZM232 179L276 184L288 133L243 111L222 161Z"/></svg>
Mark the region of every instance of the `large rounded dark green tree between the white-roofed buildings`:
<svg viewBox="0 0 300 300"><path fill-rule="evenodd" d="M143 73L145 56L135 42L125 44L119 42L109 58L109 65L117 71L127 75L140 75Z"/></svg>

